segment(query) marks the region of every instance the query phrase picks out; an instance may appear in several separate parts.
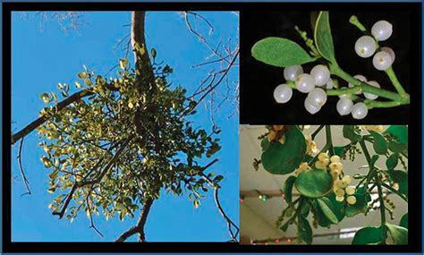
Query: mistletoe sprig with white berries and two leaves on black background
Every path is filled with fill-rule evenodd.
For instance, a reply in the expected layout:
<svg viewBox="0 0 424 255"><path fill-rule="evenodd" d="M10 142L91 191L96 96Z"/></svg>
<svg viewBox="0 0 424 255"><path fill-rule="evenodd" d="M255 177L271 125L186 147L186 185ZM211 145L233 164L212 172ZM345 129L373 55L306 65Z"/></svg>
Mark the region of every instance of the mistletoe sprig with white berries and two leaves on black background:
<svg viewBox="0 0 424 255"><path fill-rule="evenodd" d="M276 37L261 39L251 48L251 54L260 62L284 68L286 82L274 90L277 103L288 102L293 96L293 89L297 89L301 93L308 93L304 106L314 115L326 104L327 96L338 96L337 112L340 115L352 114L354 119L365 118L372 108L409 105L410 96L403 89L392 68L394 51L378 44L390 38L392 24L388 21L377 21L369 33L356 16L352 16L350 22L365 34L356 41L355 52L363 58L374 55L374 67L378 71L386 72L396 92L381 89L377 81L368 81L363 75L352 76L343 71L335 57L329 13L320 12L314 21L313 39L308 38L305 31L295 27L309 52L288 38ZM309 74L303 73L301 64L312 62L319 64L315 65ZM348 86L339 86L341 82L337 78L347 82ZM385 100L376 100L377 98Z"/></svg>

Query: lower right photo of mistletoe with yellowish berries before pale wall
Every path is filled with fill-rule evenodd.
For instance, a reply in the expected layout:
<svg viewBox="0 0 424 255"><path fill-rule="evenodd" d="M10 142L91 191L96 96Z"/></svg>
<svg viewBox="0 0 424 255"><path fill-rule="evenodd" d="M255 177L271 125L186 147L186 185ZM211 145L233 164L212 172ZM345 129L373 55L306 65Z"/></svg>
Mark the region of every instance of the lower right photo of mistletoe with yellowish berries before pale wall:
<svg viewBox="0 0 424 255"><path fill-rule="evenodd" d="M408 244L408 126L242 125L241 242Z"/></svg>

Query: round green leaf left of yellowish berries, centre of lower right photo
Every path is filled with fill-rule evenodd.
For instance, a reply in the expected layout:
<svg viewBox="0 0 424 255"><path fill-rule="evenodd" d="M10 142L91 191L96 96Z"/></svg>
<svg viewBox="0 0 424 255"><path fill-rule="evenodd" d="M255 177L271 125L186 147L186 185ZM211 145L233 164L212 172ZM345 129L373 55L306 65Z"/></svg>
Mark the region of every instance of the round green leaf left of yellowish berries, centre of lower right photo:
<svg viewBox="0 0 424 255"><path fill-rule="evenodd" d="M294 186L305 197L320 198L332 191L333 177L325 170L303 170Z"/></svg>

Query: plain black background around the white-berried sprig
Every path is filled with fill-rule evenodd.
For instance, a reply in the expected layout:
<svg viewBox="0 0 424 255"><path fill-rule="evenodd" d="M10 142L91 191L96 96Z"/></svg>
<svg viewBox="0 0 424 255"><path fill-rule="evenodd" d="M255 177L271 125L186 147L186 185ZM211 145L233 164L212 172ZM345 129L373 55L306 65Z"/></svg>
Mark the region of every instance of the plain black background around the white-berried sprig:
<svg viewBox="0 0 424 255"><path fill-rule="evenodd" d="M283 5L282 5L283 6ZM267 37L289 38L307 49L299 34L294 30L297 25L313 38L310 24L310 11L316 5L304 8L280 8L261 12L241 13L241 103L240 119L246 124L323 124L323 123L408 123L410 106L370 109L362 120L354 120L352 115L341 116L335 105L338 97L328 97L325 106L310 115L303 106L307 94L293 89L293 97L286 104L277 104L273 91L278 84L285 83L283 68L261 63L251 56L251 47L260 39ZM403 89L417 100L420 92L420 9L412 4L338 4L326 6L330 11L330 26L335 43L335 57L345 72L362 74L369 81L377 81L383 89L394 90L386 72L377 71L372 65L372 56L361 58L354 51L354 44L363 33L354 27L349 18L358 16L370 30L379 20L393 24L392 37L380 42L380 47L392 47L395 53L394 72ZM321 60L322 61L322 60ZM303 64L303 71L317 63ZM325 64L325 62L323 62ZM347 87L347 82L338 79L339 86ZM410 86L411 84L411 86ZM411 88L410 88L411 87ZM362 96L363 97L363 96ZM386 100L377 98L377 100ZM411 105L412 106L412 105Z"/></svg>

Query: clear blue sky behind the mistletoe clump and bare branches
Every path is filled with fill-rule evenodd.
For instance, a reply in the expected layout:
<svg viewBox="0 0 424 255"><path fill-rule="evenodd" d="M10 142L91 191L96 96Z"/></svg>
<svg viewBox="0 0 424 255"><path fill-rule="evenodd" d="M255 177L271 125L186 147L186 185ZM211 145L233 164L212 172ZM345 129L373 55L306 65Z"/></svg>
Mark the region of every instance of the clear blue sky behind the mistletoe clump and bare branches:
<svg viewBox="0 0 424 255"><path fill-rule="evenodd" d="M215 33L209 36L213 43L219 38L232 38L234 43L238 41L236 14L202 14L215 26ZM12 19L12 130L17 132L38 117L38 111L44 106L39 94L56 92L59 82L73 84L83 64L99 74L105 74L117 64L123 51L114 49L114 46L117 40L129 34L131 13L85 13L83 19L88 24L82 26L79 33L65 33L55 21L46 21L40 30L39 19L34 13L27 13L26 19L22 18L22 13L13 13ZM147 13L146 26L148 47L155 47L158 60L174 68L169 81L182 85L190 94L208 72L208 69L192 69L191 66L204 61L209 55L208 48L187 30L178 13ZM208 31L200 24L199 29ZM230 72L230 81L238 81L237 68ZM225 86L220 90L225 93ZM216 124L222 128L223 149L216 155L220 161L210 171L225 176L221 202L228 215L238 222L239 155L235 149L239 143L238 115L227 118L234 110L233 105L225 103L215 115ZM203 105L199 106L198 114L192 120L198 126L210 127L208 111ZM25 189L16 159L19 143L12 149L13 242L110 242L135 224L136 218L123 222L114 218L106 222L103 217L95 217L98 229L105 235L101 238L89 229L89 219L84 212L72 224L52 216L47 205L54 195L47 192L48 171L39 160L43 150L38 148L38 141L36 132L32 132L25 138L22 151L23 166L33 192L30 196L21 197ZM211 190L197 209L187 197L174 197L163 192L150 211L146 234L148 241L152 242L225 242L230 239Z"/></svg>

